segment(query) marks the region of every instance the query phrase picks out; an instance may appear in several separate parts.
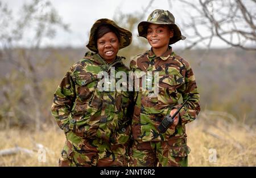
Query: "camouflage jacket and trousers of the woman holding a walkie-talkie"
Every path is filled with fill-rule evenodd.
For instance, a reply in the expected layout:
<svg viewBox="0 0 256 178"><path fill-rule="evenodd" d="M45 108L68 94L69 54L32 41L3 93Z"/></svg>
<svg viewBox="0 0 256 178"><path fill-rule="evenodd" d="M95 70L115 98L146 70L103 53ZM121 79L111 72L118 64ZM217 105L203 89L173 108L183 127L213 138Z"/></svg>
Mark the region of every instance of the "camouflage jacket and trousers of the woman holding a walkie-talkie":
<svg viewBox="0 0 256 178"><path fill-rule="evenodd" d="M200 111L199 93L191 66L180 56L167 52L156 57L152 50L132 58L130 68L134 72L158 71L159 94L150 98L148 91L136 93L137 98L132 121L134 143L130 150L130 166L187 166L185 124L195 120ZM141 80L140 80L141 81ZM154 82L152 82L154 84ZM140 86L142 84L140 83ZM154 85L153 85L154 86ZM164 116L171 109L180 108L178 100L191 99L179 112L179 123L175 129L159 133L158 128Z"/></svg>

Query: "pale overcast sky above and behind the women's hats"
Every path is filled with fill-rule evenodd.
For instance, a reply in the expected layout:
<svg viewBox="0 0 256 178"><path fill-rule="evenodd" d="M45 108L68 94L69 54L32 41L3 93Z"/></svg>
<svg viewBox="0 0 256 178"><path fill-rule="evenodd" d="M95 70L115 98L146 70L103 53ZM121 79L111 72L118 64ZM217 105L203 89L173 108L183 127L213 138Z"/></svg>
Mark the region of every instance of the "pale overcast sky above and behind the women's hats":
<svg viewBox="0 0 256 178"><path fill-rule="evenodd" d="M23 3L31 2L31 0L1 0L7 3L13 13L18 16L18 9ZM45 2L45 0L42 0ZM115 13L122 11L124 14L143 12L148 5L149 0L50 0L63 21L69 24L71 32L57 31L56 37L51 40L44 40L43 46L73 46L84 47L88 43L88 34L93 23L100 18L113 19ZM169 10L175 16L175 23L179 26L181 23L182 7L178 1L172 1L170 4L167 0L155 0L151 7L146 10L144 19L155 9ZM181 28L181 32L183 29ZM202 31L203 33L203 31ZM133 39L139 40L138 32L133 32ZM179 41L175 44L183 47L184 42ZM213 41L214 46L225 46L220 41Z"/></svg>

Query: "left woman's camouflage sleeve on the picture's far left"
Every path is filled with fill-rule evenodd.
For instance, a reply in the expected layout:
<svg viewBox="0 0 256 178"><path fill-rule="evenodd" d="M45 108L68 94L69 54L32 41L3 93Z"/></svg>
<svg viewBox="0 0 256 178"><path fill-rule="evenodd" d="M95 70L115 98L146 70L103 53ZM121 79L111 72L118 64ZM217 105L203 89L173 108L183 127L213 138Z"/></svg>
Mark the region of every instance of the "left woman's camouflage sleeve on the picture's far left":
<svg viewBox="0 0 256 178"><path fill-rule="evenodd" d="M57 125L65 132L69 130L69 113L72 110L76 98L75 82L71 77L72 67L65 74L61 83L54 93L53 104L51 107L52 116L55 117Z"/></svg>

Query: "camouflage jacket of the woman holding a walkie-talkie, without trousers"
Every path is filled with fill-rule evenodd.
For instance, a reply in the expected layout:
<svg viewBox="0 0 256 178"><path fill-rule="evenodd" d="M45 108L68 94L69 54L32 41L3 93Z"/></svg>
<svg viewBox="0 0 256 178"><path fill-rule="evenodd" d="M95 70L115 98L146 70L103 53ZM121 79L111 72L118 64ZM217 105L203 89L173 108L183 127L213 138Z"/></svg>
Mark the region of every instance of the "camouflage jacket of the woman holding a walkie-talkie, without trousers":
<svg viewBox="0 0 256 178"><path fill-rule="evenodd" d="M132 121L133 138L138 141L167 141L187 137L185 124L195 120L200 112L199 93L189 63L177 56L169 47L160 57L156 57L151 50L148 50L131 58L130 69L145 73L158 71L159 74L158 95L154 98L148 97L150 92L142 90L135 93L137 100ZM154 86L154 82L152 84ZM157 127L164 116L169 115L171 109L180 108L181 104L178 100L181 96L183 101L188 96L191 96L191 99L179 112L179 124L175 130L169 128L166 133L159 133Z"/></svg>

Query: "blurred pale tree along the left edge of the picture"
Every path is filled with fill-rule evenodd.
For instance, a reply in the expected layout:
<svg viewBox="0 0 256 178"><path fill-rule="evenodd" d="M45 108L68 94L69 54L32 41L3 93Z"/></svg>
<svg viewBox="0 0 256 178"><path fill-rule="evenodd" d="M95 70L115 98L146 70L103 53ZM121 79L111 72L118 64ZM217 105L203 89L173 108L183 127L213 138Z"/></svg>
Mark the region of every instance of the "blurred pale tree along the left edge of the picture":
<svg viewBox="0 0 256 178"><path fill-rule="evenodd" d="M1 80L5 97L2 118L6 123L15 124L33 121L35 129L39 130L40 122L45 119L40 103L44 88L38 77L40 67L36 65L33 49L38 49L42 40L52 39L57 28L68 31L68 25L49 1L25 3L18 18L0 2L0 16L0 26L5 27L0 28L0 60L15 67Z"/></svg>

